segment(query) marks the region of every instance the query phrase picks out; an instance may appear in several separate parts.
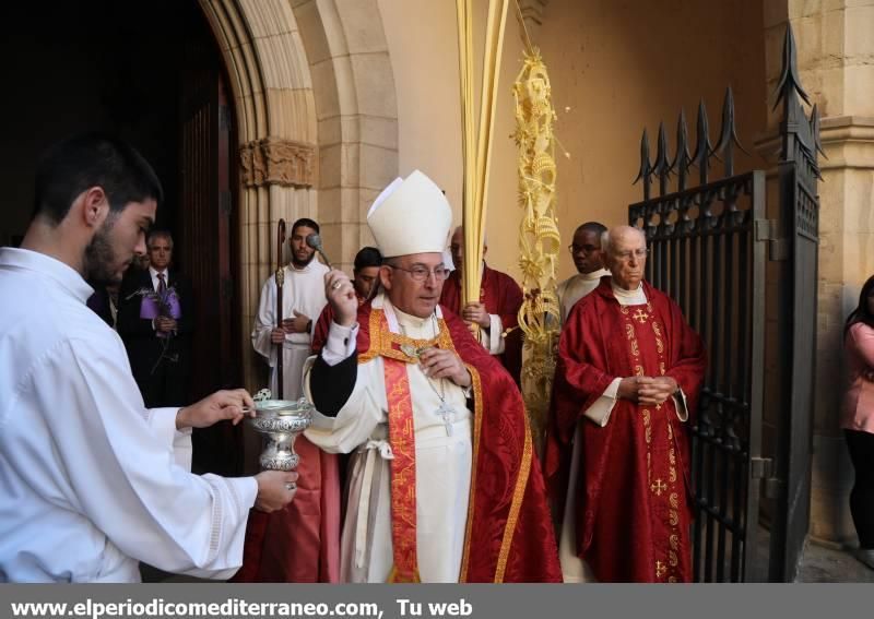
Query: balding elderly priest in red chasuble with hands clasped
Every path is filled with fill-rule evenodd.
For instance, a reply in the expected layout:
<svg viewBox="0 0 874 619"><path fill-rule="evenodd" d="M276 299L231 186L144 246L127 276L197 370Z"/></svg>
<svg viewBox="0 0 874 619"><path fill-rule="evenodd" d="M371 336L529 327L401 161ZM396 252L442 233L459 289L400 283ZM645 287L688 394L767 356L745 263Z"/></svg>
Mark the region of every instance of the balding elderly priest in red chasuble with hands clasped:
<svg viewBox="0 0 874 619"><path fill-rule="evenodd" d="M562 332L545 469L566 581L692 579L688 425L706 358L680 307L643 282L643 234L604 235L604 277Z"/></svg>

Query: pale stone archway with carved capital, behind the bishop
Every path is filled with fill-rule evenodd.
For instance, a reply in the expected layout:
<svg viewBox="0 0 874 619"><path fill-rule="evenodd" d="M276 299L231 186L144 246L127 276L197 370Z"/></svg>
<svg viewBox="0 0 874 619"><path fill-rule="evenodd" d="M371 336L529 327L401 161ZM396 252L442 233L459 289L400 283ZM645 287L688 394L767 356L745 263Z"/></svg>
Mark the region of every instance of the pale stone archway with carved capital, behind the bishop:
<svg viewBox="0 0 874 619"><path fill-rule="evenodd" d="M367 205L398 171L394 80L377 0L199 0L227 68L239 146L245 382L248 333L274 267L275 223L309 216L349 266Z"/></svg>

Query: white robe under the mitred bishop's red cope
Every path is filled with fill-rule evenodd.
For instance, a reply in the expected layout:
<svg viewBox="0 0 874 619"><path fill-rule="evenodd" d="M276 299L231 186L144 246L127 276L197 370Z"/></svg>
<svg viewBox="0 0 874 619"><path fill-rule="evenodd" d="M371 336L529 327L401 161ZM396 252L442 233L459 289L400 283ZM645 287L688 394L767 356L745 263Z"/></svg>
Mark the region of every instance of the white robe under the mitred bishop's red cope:
<svg viewBox="0 0 874 619"><path fill-rule="evenodd" d="M437 335L436 320L402 313L383 295L374 299L374 307L383 308L393 333L421 340ZM436 311L441 318L439 306ZM357 325L344 329L332 323L322 353L324 361L332 366L352 355L356 335ZM471 412L465 391L450 380L429 381L417 364L409 364L406 372L416 442L420 579L423 583L458 582L471 480ZM311 400L308 376L305 389ZM454 409L448 419L437 414L440 392ZM353 453L341 540L341 581L386 582L393 566L389 484L392 453L381 357L358 364L355 389L345 405L336 417L316 413L306 437L328 452Z"/></svg>

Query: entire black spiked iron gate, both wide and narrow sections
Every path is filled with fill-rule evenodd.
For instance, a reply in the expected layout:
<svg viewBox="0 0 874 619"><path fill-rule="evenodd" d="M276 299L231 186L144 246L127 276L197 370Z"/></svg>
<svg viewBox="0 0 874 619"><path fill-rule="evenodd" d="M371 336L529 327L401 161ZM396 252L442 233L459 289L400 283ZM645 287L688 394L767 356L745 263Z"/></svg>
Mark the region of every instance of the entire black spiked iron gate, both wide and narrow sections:
<svg viewBox="0 0 874 619"><path fill-rule="evenodd" d="M643 201L628 207L629 223L647 235L647 278L680 303L702 336L709 357L692 426L693 564L699 582L791 580L807 531L818 116L814 108L807 121L798 102L796 93L805 100L806 95L798 81L791 29L778 91L778 104L783 102L786 109L779 163L782 228L766 218L765 172L734 174L734 148L740 144L731 88L716 146L710 144L704 103L698 107L694 155L682 112L672 160L663 124L652 163L643 131L637 178ZM714 157L723 164L721 180L709 178ZM698 169L698 184L687 188L693 166ZM676 178L676 190L669 193L671 177ZM659 195L653 198L654 180ZM775 239L780 230L787 240ZM777 424L776 466L763 456L761 441L767 259L782 261L784 270L779 283L784 288L779 300L783 368L779 389L786 406ZM757 546L763 480L778 499L770 551L761 552L766 560Z"/></svg>

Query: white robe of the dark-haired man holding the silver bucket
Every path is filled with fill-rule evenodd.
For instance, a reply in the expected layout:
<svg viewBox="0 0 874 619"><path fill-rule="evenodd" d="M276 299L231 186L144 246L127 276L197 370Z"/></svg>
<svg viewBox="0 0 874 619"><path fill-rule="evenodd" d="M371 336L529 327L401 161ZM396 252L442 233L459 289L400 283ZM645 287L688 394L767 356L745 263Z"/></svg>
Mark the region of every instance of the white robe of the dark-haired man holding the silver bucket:
<svg viewBox="0 0 874 619"><path fill-rule="evenodd" d="M231 578L257 483L189 473L190 430L143 406L93 291L0 249L0 581L138 582L138 560Z"/></svg>

